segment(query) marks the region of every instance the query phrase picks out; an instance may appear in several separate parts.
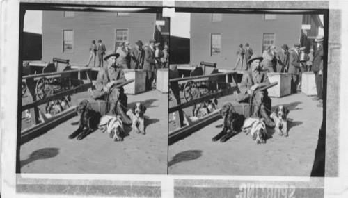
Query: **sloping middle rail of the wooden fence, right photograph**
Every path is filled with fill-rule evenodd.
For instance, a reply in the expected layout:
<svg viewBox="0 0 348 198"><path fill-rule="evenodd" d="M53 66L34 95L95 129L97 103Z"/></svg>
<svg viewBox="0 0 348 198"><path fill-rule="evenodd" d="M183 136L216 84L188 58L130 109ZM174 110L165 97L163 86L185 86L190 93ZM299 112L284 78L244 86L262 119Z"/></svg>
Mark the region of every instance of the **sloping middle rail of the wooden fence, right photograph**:
<svg viewBox="0 0 348 198"><path fill-rule="evenodd" d="M193 106L194 104L198 104L200 102L207 101L209 99L219 98L219 97L223 97L223 96L226 96L226 95L229 95L229 94L233 94L233 92L235 90L236 90L236 88L228 88L226 90L221 90L221 91L216 92L214 94L209 94L209 95L206 95L204 97L200 97L198 99L194 99L192 101L185 102L184 104L179 104L177 106L173 106L173 107L168 109L168 113L173 113L173 112L175 112L177 110L181 110L183 108L187 108L189 106Z"/></svg>

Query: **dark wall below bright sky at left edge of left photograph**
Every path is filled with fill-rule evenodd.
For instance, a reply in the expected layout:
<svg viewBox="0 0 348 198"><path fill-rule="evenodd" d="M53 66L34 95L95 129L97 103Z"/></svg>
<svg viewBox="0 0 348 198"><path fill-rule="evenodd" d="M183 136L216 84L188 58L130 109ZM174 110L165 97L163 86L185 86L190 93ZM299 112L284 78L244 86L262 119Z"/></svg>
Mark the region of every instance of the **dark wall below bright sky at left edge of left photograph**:
<svg viewBox="0 0 348 198"><path fill-rule="evenodd" d="M23 60L41 60L42 35L23 32Z"/></svg>

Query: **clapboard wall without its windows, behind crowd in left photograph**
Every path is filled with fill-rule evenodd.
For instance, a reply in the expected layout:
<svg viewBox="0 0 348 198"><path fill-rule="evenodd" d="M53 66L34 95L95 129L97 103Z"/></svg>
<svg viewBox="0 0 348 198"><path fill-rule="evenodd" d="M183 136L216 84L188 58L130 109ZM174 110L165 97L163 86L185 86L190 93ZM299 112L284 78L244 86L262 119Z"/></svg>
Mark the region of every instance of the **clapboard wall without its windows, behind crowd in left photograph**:
<svg viewBox="0 0 348 198"><path fill-rule="evenodd" d="M155 19L155 13L116 17L116 13L74 12L73 18L66 18L63 11L43 11L42 60L48 62L56 57L69 59L71 65L86 65L92 40L101 39L106 51L115 49L116 28L128 29L131 47L137 40L145 44L154 38ZM73 53L63 53L63 29L74 30Z"/></svg>

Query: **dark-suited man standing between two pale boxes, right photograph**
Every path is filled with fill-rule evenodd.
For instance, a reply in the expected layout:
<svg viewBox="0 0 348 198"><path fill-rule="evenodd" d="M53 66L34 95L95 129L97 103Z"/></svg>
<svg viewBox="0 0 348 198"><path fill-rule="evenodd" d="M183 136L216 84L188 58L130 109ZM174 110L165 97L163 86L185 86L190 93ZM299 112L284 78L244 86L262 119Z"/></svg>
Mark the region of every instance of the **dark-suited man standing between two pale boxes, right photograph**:
<svg viewBox="0 0 348 198"><path fill-rule="evenodd" d="M299 57L300 44L294 44L294 50L290 52L290 65L289 73L292 74L291 81L291 92L297 92L297 86L299 85L299 70L301 67L300 57Z"/></svg>

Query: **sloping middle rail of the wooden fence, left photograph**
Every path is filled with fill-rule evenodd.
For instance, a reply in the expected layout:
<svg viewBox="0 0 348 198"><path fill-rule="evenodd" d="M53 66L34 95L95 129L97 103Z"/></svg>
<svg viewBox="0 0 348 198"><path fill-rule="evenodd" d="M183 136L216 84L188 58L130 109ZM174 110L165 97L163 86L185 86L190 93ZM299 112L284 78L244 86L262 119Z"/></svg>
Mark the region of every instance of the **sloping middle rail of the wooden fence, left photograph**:
<svg viewBox="0 0 348 198"><path fill-rule="evenodd" d="M70 94L74 94L74 93L78 93L78 92L84 92L86 90L88 90L88 88L92 88L92 83L88 83L88 84L84 84L84 85L79 85L77 88L74 88L72 90L66 90L63 92L59 92L57 94L54 94L52 96L49 96L47 98L44 99L40 99L38 101L33 101L31 104L26 104L24 106L22 106L22 111L28 109L28 108L33 108L33 107L37 107L41 104L45 104L49 101L52 101L54 99L60 99L61 97L70 95Z"/></svg>

